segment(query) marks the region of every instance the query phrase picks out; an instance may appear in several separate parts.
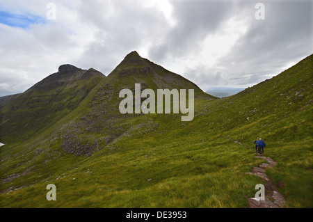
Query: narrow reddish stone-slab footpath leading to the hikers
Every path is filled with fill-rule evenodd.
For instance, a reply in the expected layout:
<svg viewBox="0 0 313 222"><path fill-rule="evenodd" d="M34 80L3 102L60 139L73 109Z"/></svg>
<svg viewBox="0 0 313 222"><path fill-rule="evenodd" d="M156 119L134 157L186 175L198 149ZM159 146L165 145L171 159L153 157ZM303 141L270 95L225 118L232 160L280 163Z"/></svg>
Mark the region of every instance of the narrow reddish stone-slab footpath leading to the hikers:
<svg viewBox="0 0 313 222"><path fill-rule="evenodd" d="M232 138L228 137L232 142L238 143L239 145L242 145L244 148L247 148L246 145L243 145L239 141L234 141ZM263 180L266 181L266 184L264 184L265 187L265 200L258 200L257 198L248 198L249 201L249 208L280 208L283 207L286 204L286 200L284 200L284 196L282 196L282 193L278 192L275 185L271 181L271 179L268 177L268 175L265 174L266 168L273 168L277 165L273 159L270 157L262 157L257 156L255 158L262 158L265 159L268 164L261 164L259 166L255 166L252 169L251 173L246 173L250 175L256 175L258 177L261 177ZM271 198L273 202L269 199Z"/></svg>

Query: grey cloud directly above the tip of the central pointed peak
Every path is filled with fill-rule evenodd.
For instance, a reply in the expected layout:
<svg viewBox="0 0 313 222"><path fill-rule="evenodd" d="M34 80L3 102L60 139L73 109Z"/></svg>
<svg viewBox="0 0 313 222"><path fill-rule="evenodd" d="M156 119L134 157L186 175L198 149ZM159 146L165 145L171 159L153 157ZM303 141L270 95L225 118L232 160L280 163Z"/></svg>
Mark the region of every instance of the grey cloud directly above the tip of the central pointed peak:
<svg viewBox="0 0 313 222"><path fill-rule="evenodd" d="M91 1L79 6L79 19L95 26L94 41L77 60L109 74L130 51L157 40L168 26L161 11L141 6L141 1ZM111 12L113 11L113 13Z"/></svg>

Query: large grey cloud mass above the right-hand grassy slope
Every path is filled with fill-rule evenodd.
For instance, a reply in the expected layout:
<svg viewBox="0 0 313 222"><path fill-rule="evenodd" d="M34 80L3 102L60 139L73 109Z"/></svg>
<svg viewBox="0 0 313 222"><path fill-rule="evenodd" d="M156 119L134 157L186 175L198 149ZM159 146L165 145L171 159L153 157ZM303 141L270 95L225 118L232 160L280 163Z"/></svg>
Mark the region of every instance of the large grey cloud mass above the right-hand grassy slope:
<svg viewBox="0 0 313 222"><path fill-rule="evenodd" d="M211 86L252 86L312 54L312 1L263 2L265 20L255 19L255 2L239 1L234 5L241 8L241 13L236 11L238 16L248 20L248 31L215 68L194 70L214 73L223 67L220 79L209 74L211 81L198 81L200 86L207 86L206 82ZM205 74L202 77L206 79Z"/></svg>

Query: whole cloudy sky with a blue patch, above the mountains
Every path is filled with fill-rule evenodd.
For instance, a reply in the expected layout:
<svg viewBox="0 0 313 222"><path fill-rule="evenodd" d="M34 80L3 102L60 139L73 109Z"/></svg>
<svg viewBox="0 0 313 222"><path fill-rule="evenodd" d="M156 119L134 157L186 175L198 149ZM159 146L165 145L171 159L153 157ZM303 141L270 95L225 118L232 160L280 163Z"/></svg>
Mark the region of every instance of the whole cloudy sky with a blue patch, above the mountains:
<svg viewBox="0 0 313 222"><path fill-rule="evenodd" d="M202 90L246 88L313 53L312 10L298 0L0 0L0 96L65 63L108 75L134 50Z"/></svg>

